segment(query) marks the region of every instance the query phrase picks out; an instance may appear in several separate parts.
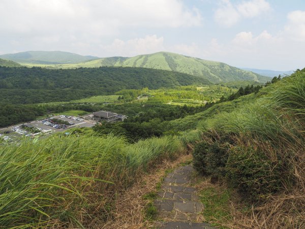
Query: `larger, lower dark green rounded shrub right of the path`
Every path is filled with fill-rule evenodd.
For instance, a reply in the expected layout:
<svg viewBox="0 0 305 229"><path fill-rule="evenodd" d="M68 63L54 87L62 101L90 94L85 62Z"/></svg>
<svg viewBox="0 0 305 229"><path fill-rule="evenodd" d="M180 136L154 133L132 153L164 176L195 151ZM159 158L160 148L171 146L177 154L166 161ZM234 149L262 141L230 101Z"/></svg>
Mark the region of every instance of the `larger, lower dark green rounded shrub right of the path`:
<svg viewBox="0 0 305 229"><path fill-rule="evenodd" d="M242 193L258 199L276 193L281 184L280 164L250 147L232 148L226 164L228 182Z"/></svg>

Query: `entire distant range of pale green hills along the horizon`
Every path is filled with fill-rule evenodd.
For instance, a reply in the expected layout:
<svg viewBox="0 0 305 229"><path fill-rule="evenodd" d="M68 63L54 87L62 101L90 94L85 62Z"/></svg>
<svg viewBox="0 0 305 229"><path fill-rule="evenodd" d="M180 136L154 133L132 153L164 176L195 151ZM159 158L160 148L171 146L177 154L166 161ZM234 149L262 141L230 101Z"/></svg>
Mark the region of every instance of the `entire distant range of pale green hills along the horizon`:
<svg viewBox="0 0 305 229"><path fill-rule="evenodd" d="M27 51L0 55L0 58L15 61L25 66L39 66L50 69L103 66L162 69L202 77L213 83L241 80L263 83L270 80L269 77L232 67L225 63L206 61L171 52L143 54L131 58L121 56L97 58L96 56L82 56L62 51Z"/></svg>

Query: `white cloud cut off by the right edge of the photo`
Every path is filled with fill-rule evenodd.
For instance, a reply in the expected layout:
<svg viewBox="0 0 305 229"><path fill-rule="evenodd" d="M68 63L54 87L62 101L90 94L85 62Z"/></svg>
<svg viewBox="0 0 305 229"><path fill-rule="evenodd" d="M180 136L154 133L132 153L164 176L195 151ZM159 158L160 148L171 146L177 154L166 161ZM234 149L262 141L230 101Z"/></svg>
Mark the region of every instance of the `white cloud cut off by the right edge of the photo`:
<svg viewBox="0 0 305 229"><path fill-rule="evenodd" d="M295 41L305 41L305 11L292 11L287 15L288 23L284 32Z"/></svg>

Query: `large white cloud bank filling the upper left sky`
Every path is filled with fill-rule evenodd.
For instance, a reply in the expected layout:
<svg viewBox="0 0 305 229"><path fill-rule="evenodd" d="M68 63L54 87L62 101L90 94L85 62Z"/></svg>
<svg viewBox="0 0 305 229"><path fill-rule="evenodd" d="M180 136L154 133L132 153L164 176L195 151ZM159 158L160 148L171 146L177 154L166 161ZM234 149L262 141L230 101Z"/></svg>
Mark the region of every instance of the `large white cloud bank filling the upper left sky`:
<svg viewBox="0 0 305 229"><path fill-rule="evenodd" d="M180 0L1 0L0 21L0 44L18 41L14 49L74 51L81 44L80 54L102 55L96 47L126 31L137 37L141 30L199 26L202 17Z"/></svg>

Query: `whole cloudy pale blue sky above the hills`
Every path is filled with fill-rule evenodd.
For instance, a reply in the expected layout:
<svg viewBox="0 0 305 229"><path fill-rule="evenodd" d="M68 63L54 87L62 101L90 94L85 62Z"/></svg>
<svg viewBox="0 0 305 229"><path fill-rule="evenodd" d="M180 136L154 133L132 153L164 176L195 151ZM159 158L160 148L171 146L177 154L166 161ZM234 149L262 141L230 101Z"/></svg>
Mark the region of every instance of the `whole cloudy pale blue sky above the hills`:
<svg viewBox="0 0 305 229"><path fill-rule="evenodd" d="M305 67L304 0L0 0L0 54L169 51L235 67Z"/></svg>

